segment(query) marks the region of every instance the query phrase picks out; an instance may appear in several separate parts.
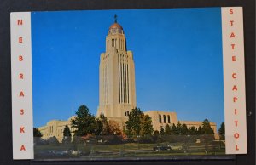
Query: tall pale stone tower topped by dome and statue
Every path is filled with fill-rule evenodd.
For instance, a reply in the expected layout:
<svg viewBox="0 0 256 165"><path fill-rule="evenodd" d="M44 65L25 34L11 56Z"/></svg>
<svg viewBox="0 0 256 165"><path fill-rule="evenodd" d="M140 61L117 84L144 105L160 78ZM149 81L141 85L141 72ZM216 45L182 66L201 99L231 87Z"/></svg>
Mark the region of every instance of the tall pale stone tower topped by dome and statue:
<svg viewBox="0 0 256 165"><path fill-rule="evenodd" d="M106 52L101 54L100 97L97 117L103 113L109 120L125 122L136 107L133 54L126 50L123 27L117 23L108 29Z"/></svg>

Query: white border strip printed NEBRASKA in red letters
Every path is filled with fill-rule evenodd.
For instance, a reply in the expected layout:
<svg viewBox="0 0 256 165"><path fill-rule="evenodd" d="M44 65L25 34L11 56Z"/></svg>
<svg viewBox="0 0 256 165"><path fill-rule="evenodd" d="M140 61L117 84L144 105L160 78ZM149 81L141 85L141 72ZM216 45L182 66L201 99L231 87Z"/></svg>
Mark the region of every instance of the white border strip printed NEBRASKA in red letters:
<svg viewBox="0 0 256 165"><path fill-rule="evenodd" d="M31 13L10 14L13 159L33 159Z"/></svg>

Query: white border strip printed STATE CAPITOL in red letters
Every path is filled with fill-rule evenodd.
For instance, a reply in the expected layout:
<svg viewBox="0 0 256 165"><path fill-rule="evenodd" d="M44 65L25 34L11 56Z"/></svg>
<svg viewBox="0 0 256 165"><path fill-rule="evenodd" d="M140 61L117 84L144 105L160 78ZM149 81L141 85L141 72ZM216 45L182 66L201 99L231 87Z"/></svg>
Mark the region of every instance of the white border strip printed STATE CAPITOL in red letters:
<svg viewBox="0 0 256 165"><path fill-rule="evenodd" d="M221 8L226 154L247 153L242 7Z"/></svg>

